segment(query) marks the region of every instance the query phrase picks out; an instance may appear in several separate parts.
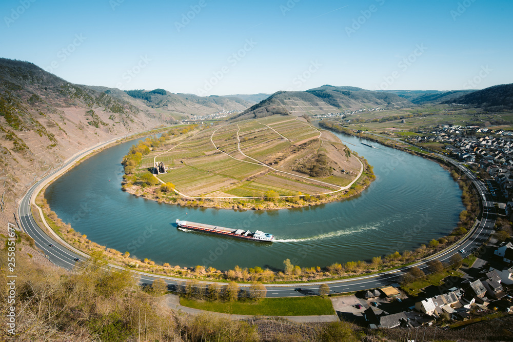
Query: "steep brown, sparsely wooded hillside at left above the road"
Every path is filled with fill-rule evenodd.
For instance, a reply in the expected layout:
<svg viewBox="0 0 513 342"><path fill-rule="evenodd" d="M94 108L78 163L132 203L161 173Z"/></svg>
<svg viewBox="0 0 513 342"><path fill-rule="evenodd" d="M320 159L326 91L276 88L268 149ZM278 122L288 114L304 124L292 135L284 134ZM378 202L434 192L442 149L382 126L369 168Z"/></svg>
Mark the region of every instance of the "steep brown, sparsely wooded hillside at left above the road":
<svg viewBox="0 0 513 342"><path fill-rule="evenodd" d="M154 110L76 85L32 63L0 58L0 220L14 223L16 201L78 151L116 136L169 125Z"/></svg>

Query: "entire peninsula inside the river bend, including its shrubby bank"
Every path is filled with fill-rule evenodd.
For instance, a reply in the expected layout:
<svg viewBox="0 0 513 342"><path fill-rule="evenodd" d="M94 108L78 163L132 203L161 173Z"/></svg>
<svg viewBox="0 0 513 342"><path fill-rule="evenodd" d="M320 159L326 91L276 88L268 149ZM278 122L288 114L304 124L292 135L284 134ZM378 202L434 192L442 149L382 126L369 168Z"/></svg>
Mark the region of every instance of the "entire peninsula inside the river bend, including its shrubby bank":
<svg viewBox="0 0 513 342"><path fill-rule="evenodd" d="M167 172L153 176L154 160ZM132 146L123 165L123 190L194 207L317 205L358 194L374 179L334 135L288 115L174 128Z"/></svg>

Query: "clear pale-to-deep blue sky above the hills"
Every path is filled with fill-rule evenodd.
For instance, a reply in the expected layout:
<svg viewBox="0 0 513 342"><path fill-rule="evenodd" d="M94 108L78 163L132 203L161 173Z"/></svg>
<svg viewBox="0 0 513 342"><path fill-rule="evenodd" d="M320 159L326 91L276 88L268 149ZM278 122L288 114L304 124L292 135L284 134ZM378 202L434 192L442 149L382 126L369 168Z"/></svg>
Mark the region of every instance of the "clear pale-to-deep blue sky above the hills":
<svg viewBox="0 0 513 342"><path fill-rule="evenodd" d="M513 82L510 0L3 0L0 56L67 81L199 95Z"/></svg>

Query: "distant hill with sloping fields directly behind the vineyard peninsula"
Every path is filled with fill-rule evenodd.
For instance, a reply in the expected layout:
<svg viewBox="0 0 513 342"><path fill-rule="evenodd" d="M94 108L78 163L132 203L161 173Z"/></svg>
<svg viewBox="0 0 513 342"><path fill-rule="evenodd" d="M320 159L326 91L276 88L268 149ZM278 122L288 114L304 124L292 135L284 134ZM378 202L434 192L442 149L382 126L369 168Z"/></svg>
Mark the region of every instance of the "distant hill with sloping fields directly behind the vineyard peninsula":
<svg viewBox="0 0 513 342"><path fill-rule="evenodd" d="M409 106L412 106L411 102L393 93L324 85L306 91L279 91L233 118L242 120L274 114L301 116L374 107L393 109Z"/></svg>

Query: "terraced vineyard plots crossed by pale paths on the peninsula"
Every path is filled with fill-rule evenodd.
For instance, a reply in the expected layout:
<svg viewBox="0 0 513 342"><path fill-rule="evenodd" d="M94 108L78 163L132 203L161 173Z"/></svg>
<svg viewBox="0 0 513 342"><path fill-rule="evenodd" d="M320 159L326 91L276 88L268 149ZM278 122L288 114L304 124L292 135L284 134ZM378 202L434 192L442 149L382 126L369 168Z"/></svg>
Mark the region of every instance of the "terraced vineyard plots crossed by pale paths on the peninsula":
<svg viewBox="0 0 513 342"><path fill-rule="evenodd" d="M327 176L298 171L326 156ZM327 131L303 119L275 115L198 128L167 140L142 160L140 169L163 162L158 177L185 197L263 198L340 192L363 165ZM305 166L306 165L306 166ZM301 170L303 170L301 169Z"/></svg>

